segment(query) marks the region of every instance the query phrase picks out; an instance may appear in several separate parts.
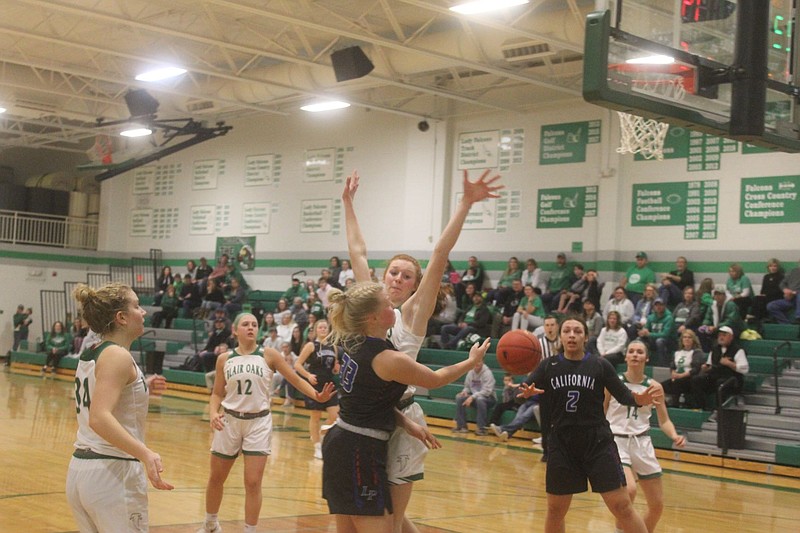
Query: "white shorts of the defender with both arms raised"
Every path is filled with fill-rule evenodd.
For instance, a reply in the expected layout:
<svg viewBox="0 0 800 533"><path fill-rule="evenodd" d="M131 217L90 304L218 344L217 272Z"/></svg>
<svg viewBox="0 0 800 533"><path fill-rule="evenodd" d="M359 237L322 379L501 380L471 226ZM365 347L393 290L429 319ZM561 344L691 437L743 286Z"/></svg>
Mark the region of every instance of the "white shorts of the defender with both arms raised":
<svg viewBox="0 0 800 533"><path fill-rule="evenodd" d="M405 409L403 414L408 418L428 427L425 422L425 413L416 402ZM396 428L389 438L388 459L386 461L386 474L390 485L402 485L419 481L425 476L425 456L428 448L422 441L406 433L403 428Z"/></svg>

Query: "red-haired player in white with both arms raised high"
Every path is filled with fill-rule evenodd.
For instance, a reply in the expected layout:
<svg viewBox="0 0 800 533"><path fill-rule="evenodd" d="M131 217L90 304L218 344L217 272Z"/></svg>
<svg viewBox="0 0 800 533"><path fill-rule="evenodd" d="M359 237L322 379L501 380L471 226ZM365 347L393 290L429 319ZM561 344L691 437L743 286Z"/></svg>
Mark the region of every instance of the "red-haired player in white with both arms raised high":
<svg viewBox="0 0 800 533"><path fill-rule="evenodd" d="M456 206L453 216L445 227L428 262L425 275L422 268L411 256L399 254L389 260L383 276L383 283L389 300L395 306L395 325L389 332L388 339L397 348L415 361L427 330L428 320L434 314L437 305L442 275L448 262L448 255L453 249L470 208L476 202L487 198L498 198L495 192L502 188L493 185L500 176L488 178L489 171L484 172L477 181L471 182L464 171L464 193ZM345 209L347 227L347 244L350 262L355 272L356 281L370 281L367 248L353 207L353 198L358 190L358 173L347 177L342 203ZM422 408L414 403L414 388L409 388L398 404L404 415L426 428L428 439L433 447L439 447L435 437L427 431L425 415ZM422 479L426 446L407 434L402 428L396 429L389 440L387 474L391 485L392 503L394 506L394 530L404 533L415 533L417 528L405 517L405 510L411 499L413 481Z"/></svg>

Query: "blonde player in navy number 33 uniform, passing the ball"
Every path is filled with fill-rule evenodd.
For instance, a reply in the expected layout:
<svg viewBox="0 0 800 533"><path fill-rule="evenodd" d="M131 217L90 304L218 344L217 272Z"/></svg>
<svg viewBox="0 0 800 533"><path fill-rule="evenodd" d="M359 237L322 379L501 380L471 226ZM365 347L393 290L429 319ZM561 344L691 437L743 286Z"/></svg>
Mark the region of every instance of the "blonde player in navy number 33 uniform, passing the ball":
<svg viewBox="0 0 800 533"><path fill-rule="evenodd" d="M384 287L359 282L331 296L331 342L345 350L339 420L322 443L322 495L339 533L391 533L392 494L387 484L387 448L396 420L415 438L436 446L427 429L408 421L395 405L406 385L442 387L483 361L489 340L469 358L436 371L419 364L386 340L395 309ZM414 429L416 427L416 429Z"/></svg>

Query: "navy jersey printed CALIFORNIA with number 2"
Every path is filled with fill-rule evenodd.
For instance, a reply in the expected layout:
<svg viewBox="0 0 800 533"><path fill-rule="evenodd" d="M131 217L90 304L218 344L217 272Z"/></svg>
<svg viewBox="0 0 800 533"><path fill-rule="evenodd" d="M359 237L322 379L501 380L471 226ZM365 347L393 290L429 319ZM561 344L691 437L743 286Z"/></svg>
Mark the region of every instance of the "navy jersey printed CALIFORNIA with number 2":
<svg viewBox="0 0 800 533"><path fill-rule="evenodd" d="M544 359L525 381L545 391L553 429L608 425L603 411L605 389L619 403L636 405L611 363L589 353L580 361L564 354Z"/></svg>

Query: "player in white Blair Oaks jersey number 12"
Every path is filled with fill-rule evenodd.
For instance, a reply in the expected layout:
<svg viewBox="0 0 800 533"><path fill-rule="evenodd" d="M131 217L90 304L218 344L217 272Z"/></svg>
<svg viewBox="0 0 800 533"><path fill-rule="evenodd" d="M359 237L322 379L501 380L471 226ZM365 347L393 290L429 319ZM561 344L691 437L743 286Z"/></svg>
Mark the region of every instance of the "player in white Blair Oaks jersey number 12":
<svg viewBox="0 0 800 533"><path fill-rule="evenodd" d="M206 519L199 532L221 532L218 513L223 486L236 457L244 456L245 532L254 532L261 511L261 481L271 453L272 415L270 382L274 371L306 396L327 401L334 391L332 383L321 392L298 376L280 353L260 348L256 343L258 321L241 314L233 323L239 346L217 358L214 390L209 400L211 428L211 473L206 485Z"/></svg>

